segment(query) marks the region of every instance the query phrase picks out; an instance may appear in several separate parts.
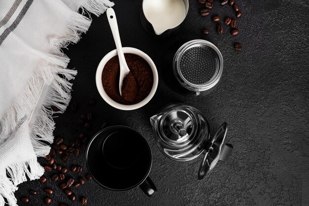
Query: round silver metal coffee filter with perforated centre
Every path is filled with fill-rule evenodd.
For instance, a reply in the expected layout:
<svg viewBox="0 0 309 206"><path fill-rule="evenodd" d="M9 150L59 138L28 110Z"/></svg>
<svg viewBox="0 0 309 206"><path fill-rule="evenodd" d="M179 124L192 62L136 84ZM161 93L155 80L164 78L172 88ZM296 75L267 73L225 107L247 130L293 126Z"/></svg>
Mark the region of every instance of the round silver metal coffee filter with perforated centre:
<svg viewBox="0 0 309 206"><path fill-rule="evenodd" d="M176 52L173 69L183 87L199 94L219 82L223 72L223 57L211 42L192 40Z"/></svg>

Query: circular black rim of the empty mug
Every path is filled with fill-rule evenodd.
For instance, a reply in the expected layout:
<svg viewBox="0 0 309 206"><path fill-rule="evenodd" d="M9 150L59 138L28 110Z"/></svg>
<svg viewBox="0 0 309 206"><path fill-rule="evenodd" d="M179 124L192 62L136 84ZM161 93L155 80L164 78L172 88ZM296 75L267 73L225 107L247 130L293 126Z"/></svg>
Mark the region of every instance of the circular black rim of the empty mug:
<svg viewBox="0 0 309 206"><path fill-rule="evenodd" d="M142 178L142 180L141 180L140 182L138 182L137 184L135 184L135 185L133 185L133 186L131 186L131 187L129 187L129 188L125 188L125 189L114 189L114 188L110 188L110 187L107 187L107 186L103 185L100 181L98 181L98 180L94 177L94 175L92 174L91 170L89 169L89 165L88 165L88 161L87 161L88 152L89 152L89 148L90 148L90 145L91 145L92 141L93 141L96 137L98 137L102 132L105 132L106 130L117 129L117 128L122 128L122 129L126 129L126 130L131 130L131 131L133 131L133 132L139 134L141 137L143 137L144 140L145 140L145 142L147 143L147 147L148 147L148 151L149 151L150 159L151 159L151 160L150 160L150 165L149 165L149 168L148 168L148 172L146 172L146 174L144 175L144 177ZM149 145L147 139L146 139L140 132L138 132L137 130L135 130L135 129L131 128L131 127L122 126L122 125L116 125L116 126L106 127L106 128L104 128L104 129L100 130L99 132L97 132L97 133L91 138L91 140L89 141L89 143L88 143L88 145L87 145L87 149L86 149L86 151L85 151L85 161L86 161L86 167L87 167L87 170L88 170L89 174L92 176L92 178L95 180L95 182L98 183L100 186L102 186L102 187L104 187L104 188L106 188L106 189L109 189L109 190L113 190L113 191L127 191L127 190L131 190L131 189L133 189L133 188L138 187L139 185L141 185L141 184L145 181L145 179L149 176L149 173L150 173L151 168L152 168L152 166L153 166L153 154L152 154L152 150L151 150L151 147L150 147L150 145Z"/></svg>

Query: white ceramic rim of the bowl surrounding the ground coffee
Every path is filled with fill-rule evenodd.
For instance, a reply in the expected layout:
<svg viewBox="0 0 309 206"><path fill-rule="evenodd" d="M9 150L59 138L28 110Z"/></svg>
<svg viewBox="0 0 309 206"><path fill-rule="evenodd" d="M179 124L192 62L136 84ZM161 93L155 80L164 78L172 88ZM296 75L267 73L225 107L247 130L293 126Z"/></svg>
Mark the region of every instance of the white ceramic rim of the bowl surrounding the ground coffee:
<svg viewBox="0 0 309 206"><path fill-rule="evenodd" d="M102 71L104 69L105 64L112 57L115 57L117 55L117 50L116 49L111 51L111 52L109 52L101 60L99 66L97 68L95 81L96 81L97 89L98 89L101 97L103 98L103 100L105 102L107 102L111 106L114 106L117 109L133 110L133 109L137 109L137 108L140 108L140 107L144 106L145 104L147 104L154 97L154 93L155 93L157 85L158 85L158 73L157 73L157 70L156 70L156 67L154 65L153 60L147 54L142 52L141 50L136 49L136 48L132 48L132 47L122 47L122 50L123 50L123 53L135 54L135 55L138 55L138 56L142 57L150 65L150 67L151 67L151 69L153 71L154 84L153 84L153 88L150 91L149 95L144 100L142 100L139 103L131 104L131 105L125 105L125 104L117 103L116 101L112 100L106 94L106 92L104 91L104 88L103 88L103 84L102 84Z"/></svg>

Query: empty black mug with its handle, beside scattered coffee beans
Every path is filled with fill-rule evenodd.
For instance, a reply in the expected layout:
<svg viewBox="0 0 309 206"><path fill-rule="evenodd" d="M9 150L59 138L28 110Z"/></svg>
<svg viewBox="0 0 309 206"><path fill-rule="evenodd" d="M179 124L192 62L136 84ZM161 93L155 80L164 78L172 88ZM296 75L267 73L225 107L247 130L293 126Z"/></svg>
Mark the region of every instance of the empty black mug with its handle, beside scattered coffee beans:
<svg viewBox="0 0 309 206"><path fill-rule="evenodd" d="M92 178L106 189L125 191L140 186L149 197L156 191L148 176L150 146L132 128L112 126L98 132L88 144L86 164Z"/></svg>

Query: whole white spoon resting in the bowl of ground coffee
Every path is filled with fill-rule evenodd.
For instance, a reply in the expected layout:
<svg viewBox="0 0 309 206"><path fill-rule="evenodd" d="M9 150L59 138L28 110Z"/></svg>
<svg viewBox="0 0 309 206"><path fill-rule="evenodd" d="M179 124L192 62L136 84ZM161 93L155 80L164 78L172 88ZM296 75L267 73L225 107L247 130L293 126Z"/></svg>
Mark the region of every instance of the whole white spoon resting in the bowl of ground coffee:
<svg viewBox="0 0 309 206"><path fill-rule="evenodd" d="M107 19L109 20L110 27L113 33L114 41L116 44L116 49L119 57L119 65L120 65L120 76L119 76L119 92L121 95L121 87L124 77L129 73L130 69L128 68L126 61L124 59L124 54L122 51L119 31L118 31L118 25L117 25L117 19L116 14L113 8L108 8L106 10Z"/></svg>

